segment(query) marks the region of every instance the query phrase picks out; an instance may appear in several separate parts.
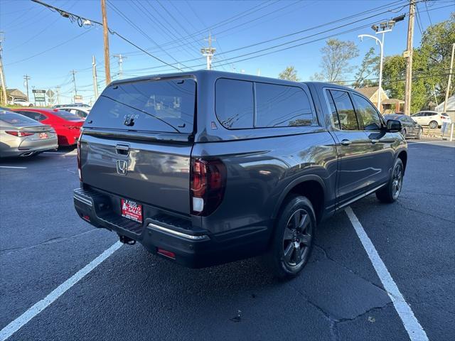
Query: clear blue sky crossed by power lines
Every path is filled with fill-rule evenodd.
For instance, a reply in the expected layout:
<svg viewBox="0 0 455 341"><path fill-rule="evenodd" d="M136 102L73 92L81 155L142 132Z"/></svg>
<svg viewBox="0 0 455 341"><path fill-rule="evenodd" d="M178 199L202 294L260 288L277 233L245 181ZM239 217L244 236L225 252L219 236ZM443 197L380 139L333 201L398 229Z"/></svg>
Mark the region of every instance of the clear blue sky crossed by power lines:
<svg viewBox="0 0 455 341"><path fill-rule="evenodd" d="M99 0L44 0L44 2L82 17L101 21ZM372 34L373 31L369 26L355 28L392 18L408 11L407 1L394 0L107 0L107 2L109 28L121 33L141 48L149 50L151 54L166 63L182 62L181 66L194 66L194 69L203 68L203 66L197 66L205 63L205 58L201 58L200 48L207 44L203 38L208 36L211 28L210 31L216 39L213 45L217 48L218 53L218 56L215 55L214 63L216 70L234 72L245 70L245 73L250 74L257 74L260 70L260 75L277 77L284 67L294 65L302 80L309 80L311 75L319 71L321 58L319 50L324 45L324 40L314 42L311 40L335 34L336 38L355 41L358 44L360 56L353 60L353 65L359 65L365 52L375 43L370 39L360 43L357 38L361 33ZM438 9L439 7L442 8ZM419 9L419 24L424 30L431 24L448 19L450 13L455 11L455 4L454 1L448 0L427 1L419 3L417 8ZM286 38L246 47L370 9L377 10ZM394 11L381 13L388 9ZM353 23L353 21L375 14L378 15ZM343 25L346 26L333 29ZM316 33L331 29L333 31L316 35ZM340 34L348 30L351 32ZM82 94L85 102L89 102L93 97L92 55L97 58L100 90L105 86L101 27L80 28L77 23L71 23L68 18L63 18L58 13L32 1L1 0L0 31L4 31L2 44L7 87L18 88L25 92L23 75L27 74L31 77L30 88L33 86L36 89L55 90L55 87L60 85L62 102L72 102L71 97L74 91L70 71L74 69L76 70L78 94ZM385 55L401 54L405 50L406 32L407 18L405 21L397 23L391 33L386 34ZM188 36L190 37L182 38ZM312 37L301 39L306 36ZM420 38L421 33L416 23L414 46L419 44ZM296 41L271 48L290 40ZM242 60L302 43L306 44L259 58ZM118 77L119 71L118 58L112 56L115 54L126 56L123 63L124 78L172 71L171 67L141 53L117 36L110 35L109 44L113 79ZM254 53L266 48L270 49ZM228 52L231 50L233 51ZM379 53L379 48L377 51ZM247 53L252 54L246 55ZM240 57L240 55L245 56ZM223 62L226 58L232 59ZM151 67L156 68L150 69ZM352 75L348 79L352 79Z"/></svg>

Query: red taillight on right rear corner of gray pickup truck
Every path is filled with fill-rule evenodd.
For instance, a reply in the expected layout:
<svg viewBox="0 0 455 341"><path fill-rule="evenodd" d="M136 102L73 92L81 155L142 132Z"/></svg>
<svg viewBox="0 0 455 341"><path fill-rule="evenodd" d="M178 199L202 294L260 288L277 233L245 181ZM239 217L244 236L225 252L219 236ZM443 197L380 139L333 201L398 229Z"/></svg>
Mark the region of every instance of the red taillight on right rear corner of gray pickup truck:
<svg viewBox="0 0 455 341"><path fill-rule="evenodd" d="M193 158L191 161L191 212L193 215L210 215L225 193L226 167L218 159Z"/></svg>

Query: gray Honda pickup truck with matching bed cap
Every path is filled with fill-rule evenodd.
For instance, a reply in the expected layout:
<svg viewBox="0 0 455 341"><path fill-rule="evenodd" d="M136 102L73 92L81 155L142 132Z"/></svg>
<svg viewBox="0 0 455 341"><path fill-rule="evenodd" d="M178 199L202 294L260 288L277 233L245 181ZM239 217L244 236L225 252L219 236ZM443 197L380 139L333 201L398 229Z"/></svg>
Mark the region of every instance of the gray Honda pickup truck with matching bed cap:
<svg viewBox="0 0 455 341"><path fill-rule="evenodd" d="M228 72L112 82L77 144L77 214L191 267L308 261L316 225L376 193L397 200L400 121L355 90Z"/></svg>

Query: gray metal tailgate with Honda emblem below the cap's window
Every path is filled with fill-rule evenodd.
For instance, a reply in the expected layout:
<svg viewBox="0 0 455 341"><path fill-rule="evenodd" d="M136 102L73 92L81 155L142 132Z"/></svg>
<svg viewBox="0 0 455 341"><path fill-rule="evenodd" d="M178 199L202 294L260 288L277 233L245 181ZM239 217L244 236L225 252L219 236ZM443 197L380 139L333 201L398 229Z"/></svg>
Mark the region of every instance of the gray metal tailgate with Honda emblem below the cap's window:
<svg viewBox="0 0 455 341"><path fill-rule="evenodd" d="M191 145L83 134L82 182L120 197L190 213Z"/></svg>

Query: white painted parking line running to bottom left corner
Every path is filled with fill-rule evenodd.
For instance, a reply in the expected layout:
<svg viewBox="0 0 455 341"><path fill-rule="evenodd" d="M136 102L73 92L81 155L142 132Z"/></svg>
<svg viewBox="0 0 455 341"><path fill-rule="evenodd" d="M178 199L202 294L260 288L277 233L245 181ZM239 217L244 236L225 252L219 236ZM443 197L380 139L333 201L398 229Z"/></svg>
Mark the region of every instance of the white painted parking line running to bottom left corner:
<svg viewBox="0 0 455 341"><path fill-rule="evenodd" d="M35 305L28 308L25 313L21 316L16 318L16 320L6 325L5 328L0 330L0 341L4 341L8 339L11 335L21 329L24 325L28 323L32 318L36 315L41 313L45 308L48 308L50 304L52 304L57 298L63 295L68 289L75 285L78 281L84 278L87 274L90 274L90 271L95 269L98 265L100 265L105 259L111 256L115 251L117 251L120 247L122 247L121 242L116 242L109 247L109 249L105 250L100 256L90 261L89 264L84 266L82 269L77 271L73 276L68 278L66 281L60 284L57 288L55 288L48 296L45 296L43 300L39 301Z"/></svg>

